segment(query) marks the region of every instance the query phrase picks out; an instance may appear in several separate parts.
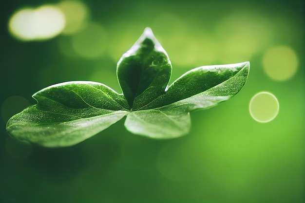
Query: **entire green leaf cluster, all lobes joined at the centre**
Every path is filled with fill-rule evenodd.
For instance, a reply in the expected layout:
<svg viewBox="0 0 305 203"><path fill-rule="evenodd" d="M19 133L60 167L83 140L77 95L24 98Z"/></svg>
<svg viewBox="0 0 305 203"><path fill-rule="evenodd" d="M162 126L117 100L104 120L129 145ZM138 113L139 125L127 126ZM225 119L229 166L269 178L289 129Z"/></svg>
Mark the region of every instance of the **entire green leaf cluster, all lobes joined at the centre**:
<svg viewBox="0 0 305 203"><path fill-rule="evenodd" d="M156 139L185 135L190 111L208 109L245 85L249 62L202 66L168 82L172 65L150 28L117 64L123 94L106 85L65 82L33 95L37 104L14 115L6 129L14 137L45 147L75 145L127 115L125 127Z"/></svg>

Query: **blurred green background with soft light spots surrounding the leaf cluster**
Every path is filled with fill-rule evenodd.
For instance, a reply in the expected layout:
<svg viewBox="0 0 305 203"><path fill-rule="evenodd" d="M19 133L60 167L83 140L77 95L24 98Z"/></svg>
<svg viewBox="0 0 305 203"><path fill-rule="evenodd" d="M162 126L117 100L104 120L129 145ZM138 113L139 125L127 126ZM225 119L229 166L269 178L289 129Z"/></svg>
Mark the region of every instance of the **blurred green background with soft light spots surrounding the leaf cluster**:
<svg viewBox="0 0 305 203"><path fill-rule="evenodd" d="M0 14L1 203L305 202L304 1L14 0ZM171 81L250 61L246 86L191 112L191 132L173 140L133 135L124 119L68 148L9 137L9 117L49 85L91 80L121 92L116 63L145 27L172 60ZM249 112L262 91L280 106L276 116L274 102L256 105L262 119L275 116L266 123Z"/></svg>

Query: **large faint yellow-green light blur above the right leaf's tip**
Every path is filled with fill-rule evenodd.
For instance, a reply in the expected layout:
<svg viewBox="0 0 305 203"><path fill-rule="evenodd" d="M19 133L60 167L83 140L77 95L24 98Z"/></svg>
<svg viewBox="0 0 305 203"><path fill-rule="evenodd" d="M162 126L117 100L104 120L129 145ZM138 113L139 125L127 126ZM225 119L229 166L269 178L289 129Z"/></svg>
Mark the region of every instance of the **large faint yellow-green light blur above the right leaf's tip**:
<svg viewBox="0 0 305 203"><path fill-rule="evenodd" d="M222 63L248 61L272 40L268 19L256 11L238 10L215 25Z"/></svg>

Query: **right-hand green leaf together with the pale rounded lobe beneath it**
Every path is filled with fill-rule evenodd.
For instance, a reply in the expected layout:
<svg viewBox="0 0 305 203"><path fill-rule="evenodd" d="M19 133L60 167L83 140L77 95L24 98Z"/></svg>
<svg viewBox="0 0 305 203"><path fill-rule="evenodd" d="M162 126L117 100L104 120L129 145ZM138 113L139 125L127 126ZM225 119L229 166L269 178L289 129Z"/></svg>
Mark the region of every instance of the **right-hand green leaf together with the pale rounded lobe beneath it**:
<svg viewBox="0 0 305 203"><path fill-rule="evenodd" d="M152 110L129 113L125 127L135 134L153 138L185 135L191 125L189 112L209 109L234 96L246 83L248 72L248 62L193 69L173 82L165 94L144 107Z"/></svg>

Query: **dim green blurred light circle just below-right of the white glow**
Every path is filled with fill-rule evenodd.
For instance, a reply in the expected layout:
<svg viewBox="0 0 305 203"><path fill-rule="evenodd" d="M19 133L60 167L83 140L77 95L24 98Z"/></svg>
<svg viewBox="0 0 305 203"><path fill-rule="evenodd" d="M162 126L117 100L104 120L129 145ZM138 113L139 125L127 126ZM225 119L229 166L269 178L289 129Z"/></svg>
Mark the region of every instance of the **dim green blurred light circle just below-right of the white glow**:
<svg viewBox="0 0 305 203"><path fill-rule="evenodd" d="M72 36L75 52L84 58L97 58L105 53L107 46L106 31L98 23L87 23L79 32Z"/></svg>

